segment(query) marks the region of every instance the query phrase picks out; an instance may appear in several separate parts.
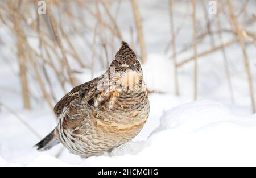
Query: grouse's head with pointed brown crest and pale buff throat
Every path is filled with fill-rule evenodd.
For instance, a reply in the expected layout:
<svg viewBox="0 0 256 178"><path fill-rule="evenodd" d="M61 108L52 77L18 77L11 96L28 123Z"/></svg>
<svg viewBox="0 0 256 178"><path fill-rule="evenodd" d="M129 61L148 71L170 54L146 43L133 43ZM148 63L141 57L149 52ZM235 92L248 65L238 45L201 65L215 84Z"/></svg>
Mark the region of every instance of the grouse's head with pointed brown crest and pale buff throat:
<svg viewBox="0 0 256 178"><path fill-rule="evenodd" d="M122 47L110 64L110 69L114 69L116 81L122 86L134 86L141 84L143 80L141 64L126 42L122 42Z"/></svg>

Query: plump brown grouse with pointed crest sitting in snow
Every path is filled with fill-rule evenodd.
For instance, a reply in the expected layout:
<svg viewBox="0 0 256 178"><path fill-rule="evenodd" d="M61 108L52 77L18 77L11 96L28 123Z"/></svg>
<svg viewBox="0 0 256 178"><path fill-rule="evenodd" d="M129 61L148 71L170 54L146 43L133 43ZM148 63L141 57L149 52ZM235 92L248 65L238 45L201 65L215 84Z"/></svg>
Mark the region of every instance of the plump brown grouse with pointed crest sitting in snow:
<svg viewBox="0 0 256 178"><path fill-rule="evenodd" d="M78 85L54 107L57 126L35 145L46 151L62 143L83 158L111 152L140 133L150 113L137 55L126 42L101 76Z"/></svg>

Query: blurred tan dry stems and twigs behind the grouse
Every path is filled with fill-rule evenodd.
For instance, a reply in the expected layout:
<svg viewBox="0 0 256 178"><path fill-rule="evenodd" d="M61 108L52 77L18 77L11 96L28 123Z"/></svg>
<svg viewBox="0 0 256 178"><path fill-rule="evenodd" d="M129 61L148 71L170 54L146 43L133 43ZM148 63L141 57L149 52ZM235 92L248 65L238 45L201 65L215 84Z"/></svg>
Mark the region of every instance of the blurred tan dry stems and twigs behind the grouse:
<svg viewBox="0 0 256 178"><path fill-rule="evenodd" d="M169 33L168 36L163 34L160 38L165 39L165 42L162 42L159 51L168 56L168 60L173 61L174 77L168 82L174 86L174 93L182 94L180 68L192 64L191 88L196 100L200 86L200 68L197 61L219 51L224 62L223 73L229 87L230 98L234 101L236 98L233 94L232 73L226 48L237 44L238 49L242 51L241 61L248 84L251 110L255 113L256 86L251 72L255 70L255 56L247 53L249 46L253 46L254 50L256 47L254 0L213 1L213 4L204 0L165 0L158 1L158 7L144 6L145 1L138 0L45 2L46 14L39 14L38 9L42 3L38 0L0 1L0 23L5 29L0 31L0 43L9 48L12 54L9 59L4 55L2 57L7 65L10 64L10 68L13 63L18 64L19 72L16 73L16 77L20 80L19 94L22 96L24 108L31 109L34 93L40 93L36 100L46 101L53 109L61 96L73 86L80 84L81 81L76 78L77 74L86 72L90 78L94 78L98 71L105 71L108 68L121 40L126 40L137 53L139 60L146 64L148 52L155 52L154 49L159 48L159 43L154 42L154 37L148 36L148 31L152 29L144 27L146 14L143 13L146 11L141 9L155 8L159 12L164 10L162 18L168 22L164 26L159 26L167 27ZM217 14L209 15L214 2L217 5ZM122 10L122 6L125 6L125 11ZM152 19L154 13L156 12L151 12ZM129 14L129 19L123 14ZM154 26L158 28L157 23ZM187 34L189 38L180 35L184 28L191 30L191 33ZM226 38L227 34L229 39ZM150 47L147 42L151 42ZM208 48L199 50L200 45L205 45L205 42ZM184 53L189 55L184 57ZM3 101L1 102L3 105Z"/></svg>

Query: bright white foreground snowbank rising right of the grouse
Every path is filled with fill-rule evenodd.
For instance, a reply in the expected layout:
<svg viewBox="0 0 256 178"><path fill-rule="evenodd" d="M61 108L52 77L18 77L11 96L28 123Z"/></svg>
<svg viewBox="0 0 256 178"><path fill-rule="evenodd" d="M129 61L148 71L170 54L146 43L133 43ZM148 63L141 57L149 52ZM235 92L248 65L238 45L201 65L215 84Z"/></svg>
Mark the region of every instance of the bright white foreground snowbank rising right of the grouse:
<svg viewBox="0 0 256 178"><path fill-rule="evenodd" d="M240 117L212 100L189 102L166 111L144 141L132 141L110 154L71 164L39 154L28 166L256 165L256 116Z"/></svg>

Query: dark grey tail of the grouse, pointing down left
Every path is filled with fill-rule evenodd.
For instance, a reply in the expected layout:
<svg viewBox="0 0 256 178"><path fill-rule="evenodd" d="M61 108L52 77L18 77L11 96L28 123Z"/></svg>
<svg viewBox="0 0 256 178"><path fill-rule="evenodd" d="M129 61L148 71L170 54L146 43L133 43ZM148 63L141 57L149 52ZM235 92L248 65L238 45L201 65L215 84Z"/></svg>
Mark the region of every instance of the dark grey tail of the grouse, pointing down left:
<svg viewBox="0 0 256 178"><path fill-rule="evenodd" d="M46 151L51 149L56 144L60 143L57 139L57 128L55 128L51 133L49 133L44 139L42 139L34 147L37 147L39 151Z"/></svg>

